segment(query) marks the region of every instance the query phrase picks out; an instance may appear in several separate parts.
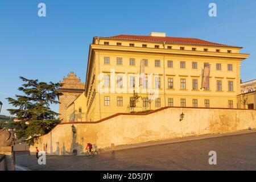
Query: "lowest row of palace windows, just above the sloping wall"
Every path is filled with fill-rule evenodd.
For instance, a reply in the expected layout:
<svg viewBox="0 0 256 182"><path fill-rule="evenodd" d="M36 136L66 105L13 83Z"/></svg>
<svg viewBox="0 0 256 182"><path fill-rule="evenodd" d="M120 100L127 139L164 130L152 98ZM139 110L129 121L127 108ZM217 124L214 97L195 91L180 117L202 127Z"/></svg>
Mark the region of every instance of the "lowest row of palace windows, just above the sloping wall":
<svg viewBox="0 0 256 182"><path fill-rule="evenodd" d="M147 97L142 98L142 104L143 107L148 107L149 105L149 100ZM105 96L104 97L104 105L105 106L110 106L110 96ZM123 97L117 97L117 106L123 106ZM169 107L174 107L174 98L168 98L168 106ZM186 99L181 98L180 99L180 107L186 107ZM130 100L130 107L135 107L134 102ZM161 98L156 98L155 99L155 107L161 107ZM193 99L192 100L192 107L198 107L198 100ZM209 108L210 107L210 100L204 100L204 107ZM230 109L233 108L233 100L228 101L228 107Z"/></svg>

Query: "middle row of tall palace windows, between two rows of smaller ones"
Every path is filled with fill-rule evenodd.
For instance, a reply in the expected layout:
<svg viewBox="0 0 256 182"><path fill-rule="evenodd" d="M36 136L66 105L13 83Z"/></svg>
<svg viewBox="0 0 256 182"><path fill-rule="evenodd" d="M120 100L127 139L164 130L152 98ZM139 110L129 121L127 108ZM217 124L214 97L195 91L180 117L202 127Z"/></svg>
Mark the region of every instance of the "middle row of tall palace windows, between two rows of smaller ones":
<svg viewBox="0 0 256 182"><path fill-rule="evenodd" d="M174 89L174 78L167 78L168 80L168 87L167 89ZM198 85L198 80L197 79L192 79L192 89L193 90L198 90L199 85ZM130 76L130 88L135 87L135 76ZM105 88L109 88L110 86L110 76L105 75L104 76L104 86ZM122 88L123 87L123 76L117 76L117 87ZM147 89L148 88L148 77L143 77L142 78L142 88ZM155 88L160 89L161 88L161 78L160 77L155 77ZM187 80L184 78L180 79L180 89L185 90L187 89ZM205 90L209 90L210 88L205 88ZM217 80L217 86L216 86L217 91L222 91L222 80ZM228 91L232 92L234 91L234 82L233 81L228 81Z"/></svg>

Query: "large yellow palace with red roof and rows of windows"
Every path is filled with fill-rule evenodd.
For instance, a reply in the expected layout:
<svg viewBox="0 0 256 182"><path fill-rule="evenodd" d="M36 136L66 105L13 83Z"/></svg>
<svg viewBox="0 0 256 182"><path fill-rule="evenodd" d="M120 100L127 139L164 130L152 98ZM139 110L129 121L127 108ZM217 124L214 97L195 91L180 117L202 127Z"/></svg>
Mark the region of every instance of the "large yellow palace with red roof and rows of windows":
<svg viewBox="0 0 256 182"><path fill-rule="evenodd" d="M94 37L84 93L68 113L82 108L80 120L72 121L98 121L164 106L237 108L240 63L249 56L241 48L160 32ZM209 85L203 88L205 65Z"/></svg>

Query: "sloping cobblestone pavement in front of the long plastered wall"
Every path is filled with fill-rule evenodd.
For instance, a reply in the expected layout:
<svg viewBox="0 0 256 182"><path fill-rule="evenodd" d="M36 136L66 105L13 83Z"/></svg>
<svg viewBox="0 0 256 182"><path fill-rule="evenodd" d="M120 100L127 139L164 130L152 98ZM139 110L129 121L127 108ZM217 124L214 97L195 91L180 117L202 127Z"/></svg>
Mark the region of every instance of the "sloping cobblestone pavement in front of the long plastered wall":
<svg viewBox="0 0 256 182"><path fill-rule="evenodd" d="M217 152L217 165L209 165L209 151ZM47 156L46 165L39 165L35 156L16 155L16 163L32 170L256 170L256 133L133 148L94 158Z"/></svg>

